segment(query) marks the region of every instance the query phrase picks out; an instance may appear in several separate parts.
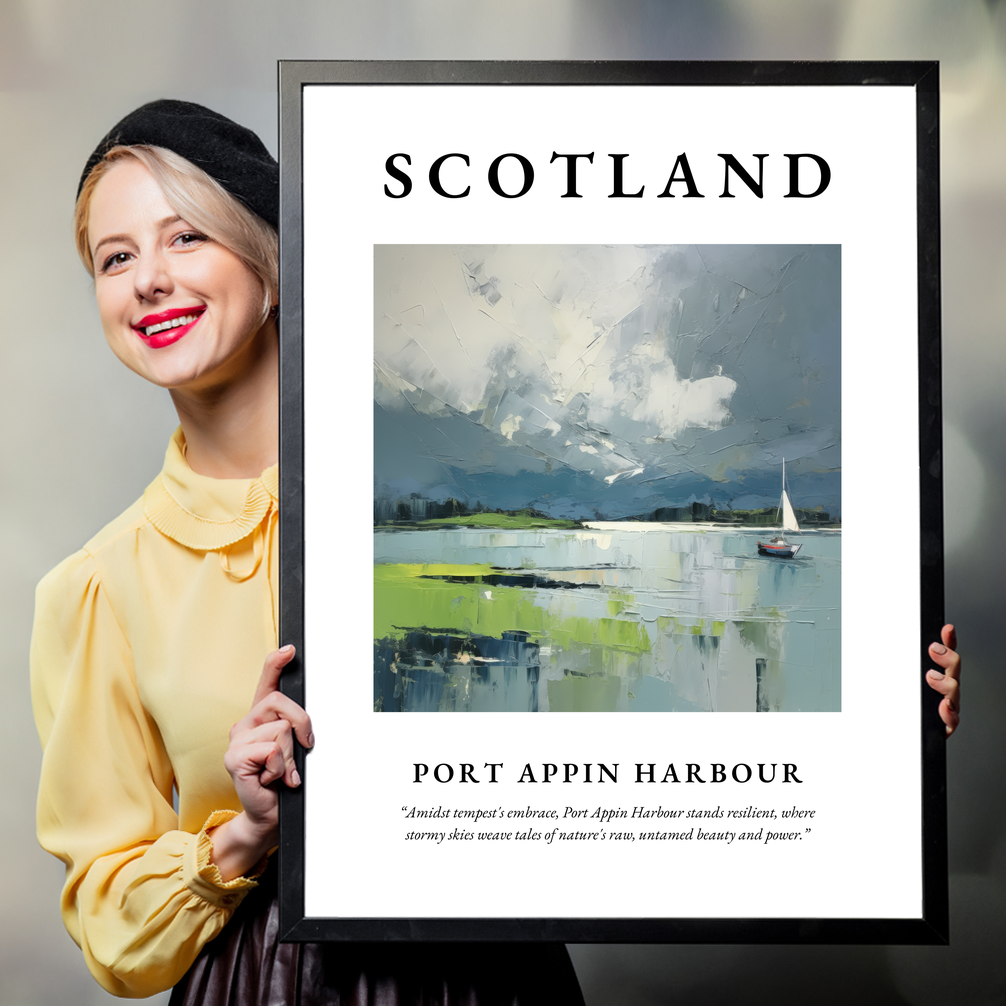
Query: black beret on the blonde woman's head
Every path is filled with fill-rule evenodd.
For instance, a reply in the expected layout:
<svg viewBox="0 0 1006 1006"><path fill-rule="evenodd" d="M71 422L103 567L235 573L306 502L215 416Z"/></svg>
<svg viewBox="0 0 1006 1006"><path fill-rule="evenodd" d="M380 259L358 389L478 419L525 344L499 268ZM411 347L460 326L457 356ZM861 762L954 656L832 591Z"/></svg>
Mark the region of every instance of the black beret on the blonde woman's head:
<svg viewBox="0 0 1006 1006"><path fill-rule="evenodd" d="M262 140L226 116L174 99L150 102L113 126L88 158L76 194L113 147L140 144L165 147L191 161L254 213L279 226L280 166Z"/></svg>

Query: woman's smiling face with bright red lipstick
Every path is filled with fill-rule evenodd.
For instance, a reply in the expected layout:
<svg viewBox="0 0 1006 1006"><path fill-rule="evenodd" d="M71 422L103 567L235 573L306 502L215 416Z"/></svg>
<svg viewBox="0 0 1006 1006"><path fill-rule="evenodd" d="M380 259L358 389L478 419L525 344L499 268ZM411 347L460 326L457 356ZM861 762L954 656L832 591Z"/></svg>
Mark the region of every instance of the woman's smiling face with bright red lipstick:
<svg viewBox="0 0 1006 1006"><path fill-rule="evenodd" d="M275 326L262 324L256 274L181 219L139 161L117 161L95 186L88 243L109 345L154 384L227 384L275 339Z"/></svg>

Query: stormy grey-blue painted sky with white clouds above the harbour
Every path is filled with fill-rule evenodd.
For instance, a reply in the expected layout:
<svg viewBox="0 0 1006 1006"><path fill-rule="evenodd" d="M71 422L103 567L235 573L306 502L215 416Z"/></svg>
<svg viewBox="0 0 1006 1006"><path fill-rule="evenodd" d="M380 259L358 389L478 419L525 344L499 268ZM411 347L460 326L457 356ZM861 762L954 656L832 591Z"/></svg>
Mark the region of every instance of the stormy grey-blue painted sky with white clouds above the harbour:
<svg viewBox="0 0 1006 1006"><path fill-rule="evenodd" d="M836 245L378 245L374 489L841 512Z"/></svg>

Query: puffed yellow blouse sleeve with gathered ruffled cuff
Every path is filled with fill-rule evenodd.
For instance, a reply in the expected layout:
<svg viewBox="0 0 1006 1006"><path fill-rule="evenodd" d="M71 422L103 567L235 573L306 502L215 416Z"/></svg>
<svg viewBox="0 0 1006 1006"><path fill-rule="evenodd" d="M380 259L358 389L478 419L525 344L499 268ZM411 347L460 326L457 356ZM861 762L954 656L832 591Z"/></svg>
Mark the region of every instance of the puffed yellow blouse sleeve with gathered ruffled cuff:
<svg viewBox="0 0 1006 1006"><path fill-rule="evenodd" d="M206 830L232 811L198 834L178 830L171 765L86 551L38 585L31 691L43 748L38 840L66 866L66 929L109 992L168 989L255 881L223 882L209 861Z"/></svg>

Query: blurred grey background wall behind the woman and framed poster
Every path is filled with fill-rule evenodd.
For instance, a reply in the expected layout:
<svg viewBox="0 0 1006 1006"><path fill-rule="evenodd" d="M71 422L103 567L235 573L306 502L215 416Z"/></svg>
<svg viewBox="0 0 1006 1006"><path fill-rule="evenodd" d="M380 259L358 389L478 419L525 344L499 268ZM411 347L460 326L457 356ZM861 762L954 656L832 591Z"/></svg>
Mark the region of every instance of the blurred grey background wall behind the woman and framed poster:
<svg viewBox="0 0 1006 1006"><path fill-rule="evenodd" d="M572 954L592 1006L1006 1002L1006 4L995 0L0 4L0 1002L109 999L62 930L61 869L34 840L32 591L140 494L175 423L167 396L105 346L70 239L77 175L112 123L161 97L219 109L275 149L281 57L942 60L948 617L967 670L950 745L953 945Z"/></svg>

